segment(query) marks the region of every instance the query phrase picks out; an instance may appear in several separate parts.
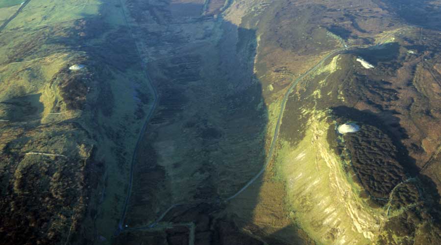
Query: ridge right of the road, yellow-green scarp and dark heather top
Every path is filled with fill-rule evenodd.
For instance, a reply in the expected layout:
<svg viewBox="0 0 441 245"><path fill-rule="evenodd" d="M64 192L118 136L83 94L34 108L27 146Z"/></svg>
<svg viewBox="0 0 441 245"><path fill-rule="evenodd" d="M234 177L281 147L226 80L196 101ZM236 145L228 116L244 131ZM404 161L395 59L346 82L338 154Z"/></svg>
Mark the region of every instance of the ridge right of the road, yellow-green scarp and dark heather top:
<svg viewBox="0 0 441 245"><path fill-rule="evenodd" d="M396 113L385 109L402 97L386 82L396 73L384 69L393 69L394 57L414 59L393 45L399 44L334 57L288 102L276 172L286 181L290 217L323 244L439 239L434 184L415 171L397 140L403 129L393 123ZM377 68L367 71L359 55L370 56ZM294 118L302 122L297 130ZM347 122L359 123L360 131L339 134L337 127Z"/></svg>

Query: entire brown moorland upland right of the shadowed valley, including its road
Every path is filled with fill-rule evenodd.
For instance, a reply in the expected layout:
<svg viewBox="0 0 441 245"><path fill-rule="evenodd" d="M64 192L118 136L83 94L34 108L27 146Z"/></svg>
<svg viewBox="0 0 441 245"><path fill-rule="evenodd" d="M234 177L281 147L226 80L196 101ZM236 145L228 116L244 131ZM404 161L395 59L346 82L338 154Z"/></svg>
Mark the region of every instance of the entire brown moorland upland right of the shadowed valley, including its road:
<svg viewBox="0 0 441 245"><path fill-rule="evenodd" d="M439 243L438 30L379 1L278 4L227 10L257 30L270 137L283 113L272 162L230 211L292 244L300 229L318 244Z"/></svg>

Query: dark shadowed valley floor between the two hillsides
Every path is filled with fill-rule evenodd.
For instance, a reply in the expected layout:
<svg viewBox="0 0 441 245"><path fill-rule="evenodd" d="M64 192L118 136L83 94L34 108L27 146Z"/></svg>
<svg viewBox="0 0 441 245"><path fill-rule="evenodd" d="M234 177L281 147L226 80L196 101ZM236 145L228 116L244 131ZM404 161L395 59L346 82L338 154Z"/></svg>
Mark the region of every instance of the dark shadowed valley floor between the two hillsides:
<svg viewBox="0 0 441 245"><path fill-rule="evenodd" d="M184 11L187 6L197 9L194 4L173 4L173 9ZM159 19L160 11L155 12ZM254 209L259 201L256 185L262 180L258 173L266 167L268 110L262 85L253 72L256 34L227 22L220 28L220 42L206 44L200 48L204 52L174 52L147 64L158 90L158 107L136 153L133 192L123 222L131 229L123 230L115 238L116 244L187 244L191 223L196 244L262 244L243 233L235 222L237 216L225 211L225 201L255 180L245 190L249 210ZM179 47L187 41L174 42ZM164 160L167 147L173 149L167 154L179 160ZM173 188L179 179L182 185L191 182L196 186L190 187L189 194L183 190L182 195L189 196L175 203ZM252 220L252 212L245 216ZM165 223L168 228L158 229Z"/></svg>

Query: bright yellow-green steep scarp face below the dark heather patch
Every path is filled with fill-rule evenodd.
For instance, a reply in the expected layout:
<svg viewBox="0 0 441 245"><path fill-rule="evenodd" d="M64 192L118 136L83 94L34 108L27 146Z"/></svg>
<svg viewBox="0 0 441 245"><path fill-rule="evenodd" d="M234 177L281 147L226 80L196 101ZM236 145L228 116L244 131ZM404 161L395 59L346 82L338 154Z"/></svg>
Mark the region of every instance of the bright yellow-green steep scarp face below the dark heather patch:
<svg viewBox="0 0 441 245"><path fill-rule="evenodd" d="M282 160L294 221L324 244L374 241L382 209L368 208L345 163L327 143L324 112L311 116L305 138Z"/></svg>

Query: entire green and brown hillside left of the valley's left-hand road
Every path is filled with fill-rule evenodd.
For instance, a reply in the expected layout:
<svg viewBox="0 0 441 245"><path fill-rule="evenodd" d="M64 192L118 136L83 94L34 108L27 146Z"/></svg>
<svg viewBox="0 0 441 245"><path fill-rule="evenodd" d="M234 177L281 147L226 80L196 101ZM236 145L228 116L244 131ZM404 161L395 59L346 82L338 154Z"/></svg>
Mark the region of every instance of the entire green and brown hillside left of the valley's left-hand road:
<svg viewBox="0 0 441 245"><path fill-rule="evenodd" d="M118 4L31 0L5 17L0 233L6 244L84 244L95 239L98 216L109 234L117 226L119 214L111 210L122 205L114 196L124 186L113 180L128 178L153 101ZM71 70L75 64L84 68ZM104 179L112 180L107 188Z"/></svg>

